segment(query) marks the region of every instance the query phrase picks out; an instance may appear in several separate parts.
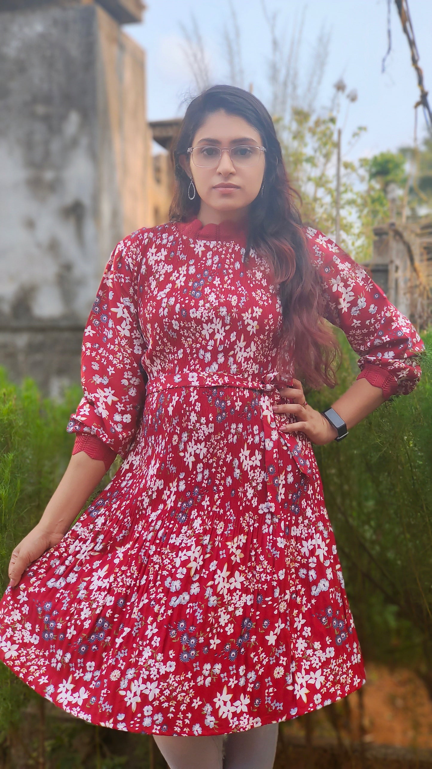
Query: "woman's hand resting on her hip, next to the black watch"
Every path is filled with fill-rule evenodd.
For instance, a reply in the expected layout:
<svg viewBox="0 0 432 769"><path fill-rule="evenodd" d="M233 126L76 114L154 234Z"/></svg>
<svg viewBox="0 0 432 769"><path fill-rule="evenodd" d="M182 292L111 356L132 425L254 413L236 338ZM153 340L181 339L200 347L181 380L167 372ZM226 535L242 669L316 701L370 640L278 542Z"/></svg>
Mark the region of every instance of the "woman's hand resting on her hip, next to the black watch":
<svg viewBox="0 0 432 769"><path fill-rule="evenodd" d="M297 432L301 430L312 443L324 446L337 438L337 430L332 427L319 411L306 403L301 381L293 379L293 387L284 387L279 390L284 398L289 398L292 403L277 404L273 407L275 414L294 414L296 421L283 424L279 428L281 432Z"/></svg>

